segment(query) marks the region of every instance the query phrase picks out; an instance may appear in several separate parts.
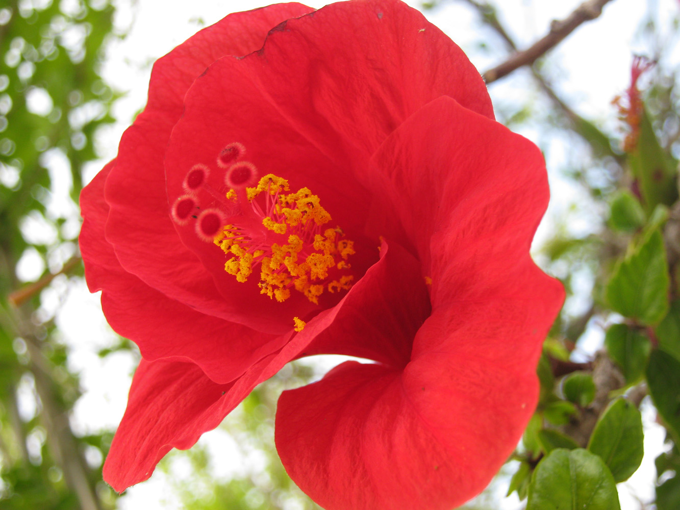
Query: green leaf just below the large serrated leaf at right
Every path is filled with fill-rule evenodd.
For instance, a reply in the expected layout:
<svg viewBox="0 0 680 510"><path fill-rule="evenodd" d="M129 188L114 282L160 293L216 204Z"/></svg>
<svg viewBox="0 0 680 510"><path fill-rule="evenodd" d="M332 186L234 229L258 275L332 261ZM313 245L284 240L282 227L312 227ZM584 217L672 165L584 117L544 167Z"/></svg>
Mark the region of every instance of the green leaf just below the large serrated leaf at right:
<svg viewBox="0 0 680 510"><path fill-rule="evenodd" d="M651 342L647 335L629 328L626 324L614 324L607 330L605 347L611 359L624 373L628 384L638 381L643 376L651 350Z"/></svg>

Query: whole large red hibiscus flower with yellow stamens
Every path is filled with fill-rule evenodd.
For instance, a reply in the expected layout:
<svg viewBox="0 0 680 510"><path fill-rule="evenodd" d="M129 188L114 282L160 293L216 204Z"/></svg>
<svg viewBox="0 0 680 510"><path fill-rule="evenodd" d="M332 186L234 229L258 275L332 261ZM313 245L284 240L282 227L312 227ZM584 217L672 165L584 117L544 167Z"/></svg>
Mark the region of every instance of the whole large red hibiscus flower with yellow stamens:
<svg viewBox="0 0 680 510"><path fill-rule="evenodd" d="M345 354L374 362L279 400L292 479L330 510L471 498L537 401L563 299L528 254L547 201L539 150L401 2L197 33L81 197L88 285L143 358L105 479L147 479L286 362Z"/></svg>

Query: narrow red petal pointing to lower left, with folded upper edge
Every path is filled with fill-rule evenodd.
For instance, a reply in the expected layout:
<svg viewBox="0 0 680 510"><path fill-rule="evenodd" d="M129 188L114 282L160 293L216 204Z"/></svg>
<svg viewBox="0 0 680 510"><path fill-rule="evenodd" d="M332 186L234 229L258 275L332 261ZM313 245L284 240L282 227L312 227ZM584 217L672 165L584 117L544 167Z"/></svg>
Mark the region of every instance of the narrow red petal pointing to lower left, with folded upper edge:
<svg viewBox="0 0 680 510"><path fill-rule="evenodd" d="M151 476L173 447L188 449L220 424L255 386L296 358L330 324L337 308L313 318L286 345L252 364L229 384L216 384L197 365L141 360L128 406L104 464L104 479L118 492Z"/></svg>

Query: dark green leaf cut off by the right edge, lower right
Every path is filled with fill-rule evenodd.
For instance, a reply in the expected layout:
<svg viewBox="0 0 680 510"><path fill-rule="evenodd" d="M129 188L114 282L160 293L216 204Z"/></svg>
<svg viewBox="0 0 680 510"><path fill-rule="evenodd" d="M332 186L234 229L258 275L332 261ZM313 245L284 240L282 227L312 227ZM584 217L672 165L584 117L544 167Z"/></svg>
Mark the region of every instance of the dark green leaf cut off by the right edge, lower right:
<svg viewBox="0 0 680 510"><path fill-rule="evenodd" d="M647 365L647 386L668 432L680 443L680 361L662 350L653 350Z"/></svg>

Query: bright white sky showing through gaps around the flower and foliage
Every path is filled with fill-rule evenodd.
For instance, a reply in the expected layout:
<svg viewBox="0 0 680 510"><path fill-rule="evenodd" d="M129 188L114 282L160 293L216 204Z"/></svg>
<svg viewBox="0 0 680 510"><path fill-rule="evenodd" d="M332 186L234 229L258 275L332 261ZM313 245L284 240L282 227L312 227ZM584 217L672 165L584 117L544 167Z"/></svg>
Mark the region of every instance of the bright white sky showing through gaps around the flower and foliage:
<svg viewBox="0 0 680 510"><path fill-rule="evenodd" d="M250 10L263 5L256 0L142 0L136 5L132 1L117 2L116 27L119 31L129 33L124 39L109 44L103 68L107 82L115 89L126 92L126 95L114 107L118 122L99 133L97 149L101 161L88 166L86 181L99 171L106 160L115 156L122 131L146 102L150 64L154 59L169 52L200 27L216 22L228 12ZM415 1L408 3L419 5ZM577 0L503 0L502 20L511 28L519 46L524 47L541 37L551 20L568 15L579 3ZM323 3L313 1L309 5L321 7ZM628 84L631 54L648 49L644 44L635 42L635 29L639 20L647 10L656 12L662 20L669 19L678 7L675 0L614 0L609 3L600 19L583 25L551 54L547 73L560 78L558 92L587 118L611 118L611 100ZM480 71L502 60L502 46L490 33L484 32L489 34L485 40L491 51L485 51L477 45L482 29L475 14L464 2L449 0L436 10L426 12L426 16L468 53ZM664 44L674 44L677 49L677 38L670 27L665 29L664 34ZM676 61L680 60L678 51L673 55ZM492 84L490 94L499 111L512 112L513 108L520 107L526 101L528 87L526 73L518 71L513 78ZM615 129L615 126L606 127ZM537 236L543 239L554 225L550 218L565 214L568 207L581 197L579 190L560 175L560 169L571 150L567 141L547 139L545 133L538 129L538 124L535 127L527 126L522 134L539 143L544 150L547 149L545 154L553 198L548 220L541 226ZM59 164L58 161L51 163L52 167ZM574 228L587 229L588 218L581 218L580 221L583 224L579 227L579 218L576 218ZM30 272L30 264L25 271ZM584 285L588 286L588 282ZM101 314L99 294L89 294L82 283L57 278L54 286L44 292L43 298L47 310L58 310L58 326L71 351L69 363L71 368L82 373L85 392L75 407L75 431L87 433L116 426L125 408L135 359L123 353L108 356L105 360L97 356L97 350L111 345L116 339ZM586 349L594 351L600 343L601 335L594 334L587 342ZM319 374L322 375L336 362L333 358L320 362ZM31 413L31 409L24 409L24 413ZM626 485L632 486L632 492L643 500L649 500L653 496L653 456L660 451L662 432L652 423L653 411L647 408L644 413L647 418L645 450L648 455L643 467ZM222 432L211 432L201 441L220 452L222 458L235 459L235 462L218 464L216 469L220 476L228 476L231 469L238 469L240 462L246 462L238 458L233 439ZM185 468L177 466L180 475L182 469ZM122 498L120 507L123 510L139 509L144 505L160 508L158 502L166 500L163 509L179 508L178 503L168 496L167 488L165 477L158 473L150 481L131 488L129 496ZM621 492L623 510L639 508L628 494L630 490L624 488ZM509 498L499 508L514 510L519 506L516 499Z"/></svg>

